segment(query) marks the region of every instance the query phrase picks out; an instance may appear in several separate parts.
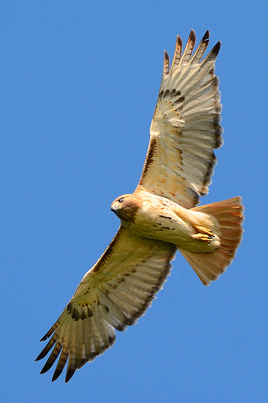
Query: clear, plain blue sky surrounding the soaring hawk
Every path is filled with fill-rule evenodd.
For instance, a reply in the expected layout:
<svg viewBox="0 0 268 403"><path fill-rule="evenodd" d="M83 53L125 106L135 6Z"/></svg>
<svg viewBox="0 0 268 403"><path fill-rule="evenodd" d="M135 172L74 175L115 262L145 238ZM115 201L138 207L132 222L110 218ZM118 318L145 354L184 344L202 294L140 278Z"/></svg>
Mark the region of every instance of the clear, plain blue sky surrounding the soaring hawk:
<svg viewBox="0 0 268 403"><path fill-rule="evenodd" d="M15 1L0 17L1 399L252 403L267 397L267 2ZM202 204L243 196L244 240L206 288L177 254L115 346L51 383L40 338L114 236L139 180L163 49L211 31L225 145Z"/></svg>

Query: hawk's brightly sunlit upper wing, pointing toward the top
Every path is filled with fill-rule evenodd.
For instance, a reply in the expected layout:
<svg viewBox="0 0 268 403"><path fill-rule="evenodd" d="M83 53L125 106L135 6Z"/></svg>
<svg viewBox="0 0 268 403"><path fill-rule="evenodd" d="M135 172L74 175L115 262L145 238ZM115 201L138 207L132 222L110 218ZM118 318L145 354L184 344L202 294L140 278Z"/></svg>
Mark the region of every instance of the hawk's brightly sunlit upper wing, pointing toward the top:
<svg viewBox="0 0 268 403"><path fill-rule="evenodd" d="M208 193L216 165L213 149L223 144L219 79L215 76L221 43L201 61L209 31L192 56L195 42L192 30L181 55L182 39L177 36L170 69L168 54L164 54L159 97L138 185L187 209L199 204L199 195Z"/></svg>

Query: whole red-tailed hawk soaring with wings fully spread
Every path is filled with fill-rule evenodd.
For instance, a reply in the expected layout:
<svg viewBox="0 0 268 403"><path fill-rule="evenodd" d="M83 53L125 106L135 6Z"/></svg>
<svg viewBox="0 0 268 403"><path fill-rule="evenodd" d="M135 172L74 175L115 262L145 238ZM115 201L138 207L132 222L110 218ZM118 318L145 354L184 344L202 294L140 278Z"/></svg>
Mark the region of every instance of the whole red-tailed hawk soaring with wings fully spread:
<svg viewBox="0 0 268 403"><path fill-rule="evenodd" d="M52 349L41 373L57 360L57 379L112 347L123 331L144 315L162 288L178 250L205 286L231 263L242 238L240 196L198 206L208 193L216 165L213 149L223 145L218 42L203 58L209 31L194 51L191 30L183 50L177 36L171 65L164 51L159 96L149 147L137 188L116 198L111 210L120 228L105 252L82 278L62 314L41 341L36 360Z"/></svg>

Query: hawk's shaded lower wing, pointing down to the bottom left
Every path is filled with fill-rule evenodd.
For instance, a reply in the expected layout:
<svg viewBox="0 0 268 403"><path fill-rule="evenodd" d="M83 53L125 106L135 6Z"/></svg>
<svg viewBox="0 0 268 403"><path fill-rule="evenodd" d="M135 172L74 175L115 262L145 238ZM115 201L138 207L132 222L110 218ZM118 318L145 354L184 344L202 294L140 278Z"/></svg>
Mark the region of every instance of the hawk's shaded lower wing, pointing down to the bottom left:
<svg viewBox="0 0 268 403"><path fill-rule="evenodd" d="M48 371L60 355L52 381L68 360L68 382L76 369L112 347L115 329L123 331L135 324L151 305L169 275L175 252L171 243L136 237L121 227L41 339L52 335L36 360L54 346L41 373Z"/></svg>

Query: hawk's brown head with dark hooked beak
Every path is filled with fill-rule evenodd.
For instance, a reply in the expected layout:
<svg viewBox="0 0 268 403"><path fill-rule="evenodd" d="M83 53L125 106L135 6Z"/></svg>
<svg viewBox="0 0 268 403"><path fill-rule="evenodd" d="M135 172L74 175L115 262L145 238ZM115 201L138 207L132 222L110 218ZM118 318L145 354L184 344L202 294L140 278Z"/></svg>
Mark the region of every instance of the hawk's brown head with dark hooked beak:
<svg viewBox="0 0 268 403"><path fill-rule="evenodd" d="M134 221L135 215L139 209L138 199L134 194L123 194L117 197L111 210L123 221Z"/></svg>

